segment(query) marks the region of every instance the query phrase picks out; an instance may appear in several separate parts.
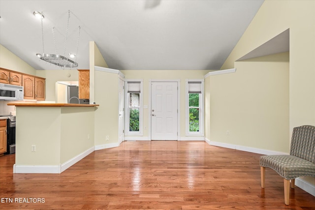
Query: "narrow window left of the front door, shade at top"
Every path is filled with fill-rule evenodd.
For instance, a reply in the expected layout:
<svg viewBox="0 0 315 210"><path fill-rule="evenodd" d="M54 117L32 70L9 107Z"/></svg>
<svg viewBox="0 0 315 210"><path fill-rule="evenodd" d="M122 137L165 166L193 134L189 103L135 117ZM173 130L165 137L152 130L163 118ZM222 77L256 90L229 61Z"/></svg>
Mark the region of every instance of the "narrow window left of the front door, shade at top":
<svg viewBox="0 0 315 210"><path fill-rule="evenodd" d="M125 135L142 135L142 80L126 80Z"/></svg>

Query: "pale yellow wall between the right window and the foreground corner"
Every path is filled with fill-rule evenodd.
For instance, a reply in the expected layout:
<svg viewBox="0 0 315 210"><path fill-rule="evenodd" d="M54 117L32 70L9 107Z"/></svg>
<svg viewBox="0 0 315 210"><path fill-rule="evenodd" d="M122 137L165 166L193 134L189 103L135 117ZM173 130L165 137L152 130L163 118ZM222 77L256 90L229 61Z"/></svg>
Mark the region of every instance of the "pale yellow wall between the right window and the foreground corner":
<svg viewBox="0 0 315 210"><path fill-rule="evenodd" d="M289 152L289 53L210 76L210 141ZM226 135L229 131L229 135Z"/></svg>

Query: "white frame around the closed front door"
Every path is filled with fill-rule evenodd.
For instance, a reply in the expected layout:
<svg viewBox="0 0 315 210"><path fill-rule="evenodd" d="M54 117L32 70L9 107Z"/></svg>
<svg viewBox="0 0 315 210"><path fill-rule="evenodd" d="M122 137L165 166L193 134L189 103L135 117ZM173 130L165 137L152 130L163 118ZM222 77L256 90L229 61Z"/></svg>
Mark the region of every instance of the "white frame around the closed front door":
<svg viewBox="0 0 315 210"><path fill-rule="evenodd" d="M177 82L177 141L180 141L180 134L181 134L181 80L180 79L149 79L149 103L148 103L148 115L149 115L149 122L148 122L148 134L149 134L149 140L152 141L152 123L151 123L151 110L152 110L152 82Z"/></svg>

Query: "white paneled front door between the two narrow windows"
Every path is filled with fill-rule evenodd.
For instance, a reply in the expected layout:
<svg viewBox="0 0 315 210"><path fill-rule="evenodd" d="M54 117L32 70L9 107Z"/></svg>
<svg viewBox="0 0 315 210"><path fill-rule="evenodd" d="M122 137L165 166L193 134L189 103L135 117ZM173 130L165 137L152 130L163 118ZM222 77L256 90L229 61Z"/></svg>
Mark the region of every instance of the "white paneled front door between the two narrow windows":
<svg viewBox="0 0 315 210"><path fill-rule="evenodd" d="M177 82L151 85L151 139L177 140Z"/></svg>

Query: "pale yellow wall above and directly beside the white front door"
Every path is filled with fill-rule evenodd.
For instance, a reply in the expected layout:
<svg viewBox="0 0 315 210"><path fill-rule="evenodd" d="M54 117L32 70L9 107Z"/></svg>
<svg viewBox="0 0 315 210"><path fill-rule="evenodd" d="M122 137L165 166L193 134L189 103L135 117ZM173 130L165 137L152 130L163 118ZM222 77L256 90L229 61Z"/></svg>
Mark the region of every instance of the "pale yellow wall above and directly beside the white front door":
<svg viewBox="0 0 315 210"><path fill-rule="evenodd" d="M186 79L203 79L209 70L122 70L126 79L143 79L143 105L149 104L150 79L178 80L180 79L180 136L185 137L185 109L186 109ZM143 126L149 126L149 110L143 109ZM143 136L149 136L148 129Z"/></svg>

